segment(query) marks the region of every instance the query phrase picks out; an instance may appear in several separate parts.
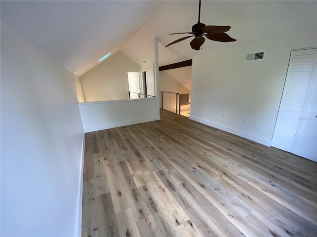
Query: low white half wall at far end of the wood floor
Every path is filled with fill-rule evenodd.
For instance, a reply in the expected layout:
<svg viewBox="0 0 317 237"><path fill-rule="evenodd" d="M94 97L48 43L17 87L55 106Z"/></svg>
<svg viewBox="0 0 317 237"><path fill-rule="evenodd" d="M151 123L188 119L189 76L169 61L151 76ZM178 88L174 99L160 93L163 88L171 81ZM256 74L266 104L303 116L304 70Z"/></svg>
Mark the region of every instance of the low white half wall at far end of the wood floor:
<svg viewBox="0 0 317 237"><path fill-rule="evenodd" d="M160 119L158 97L82 103L79 109L85 132Z"/></svg>

